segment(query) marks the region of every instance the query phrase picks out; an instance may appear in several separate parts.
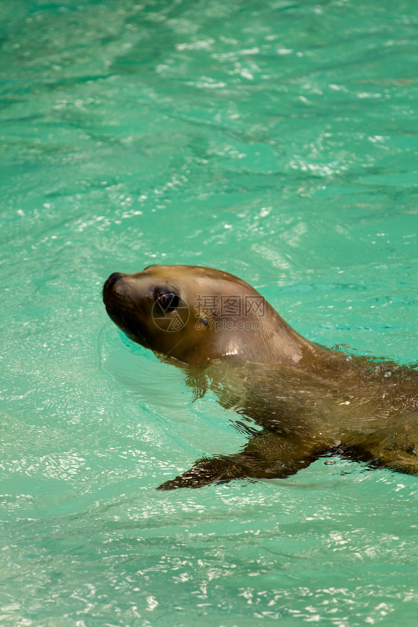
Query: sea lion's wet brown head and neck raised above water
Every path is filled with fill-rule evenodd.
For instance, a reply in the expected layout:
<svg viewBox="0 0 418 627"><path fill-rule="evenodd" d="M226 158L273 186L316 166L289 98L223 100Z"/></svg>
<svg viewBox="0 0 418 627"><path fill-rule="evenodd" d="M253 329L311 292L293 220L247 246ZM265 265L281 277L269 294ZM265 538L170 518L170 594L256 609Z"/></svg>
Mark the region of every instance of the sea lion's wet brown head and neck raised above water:
<svg viewBox="0 0 418 627"><path fill-rule="evenodd" d="M214 268L151 265L115 272L103 286L103 302L130 339L185 364L226 356L268 362L272 355L295 363L300 340L306 342L253 287Z"/></svg>

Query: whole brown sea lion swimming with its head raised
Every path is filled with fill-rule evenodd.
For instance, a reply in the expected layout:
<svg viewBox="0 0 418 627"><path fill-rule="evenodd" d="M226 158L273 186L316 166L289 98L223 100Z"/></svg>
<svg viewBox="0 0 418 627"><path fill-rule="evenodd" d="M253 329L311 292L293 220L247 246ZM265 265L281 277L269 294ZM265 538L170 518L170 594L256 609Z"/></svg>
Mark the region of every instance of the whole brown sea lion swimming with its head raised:
<svg viewBox="0 0 418 627"><path fill-rule="evenodd" d="M330 454L418 474L414 367L313 344L248 283L214 268L113 273L103 302L128 337L182 367L198 395L211 387L244 416L242 451L199 459L159 489L285 478Z"/></svg>

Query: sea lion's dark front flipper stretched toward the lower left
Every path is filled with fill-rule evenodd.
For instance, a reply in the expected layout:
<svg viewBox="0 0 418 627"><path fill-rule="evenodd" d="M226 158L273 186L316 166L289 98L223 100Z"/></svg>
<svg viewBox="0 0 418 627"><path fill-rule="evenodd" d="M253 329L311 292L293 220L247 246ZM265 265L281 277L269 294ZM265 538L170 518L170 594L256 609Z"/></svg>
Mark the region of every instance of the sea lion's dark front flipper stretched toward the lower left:
<svg viewBox="0 0 418 627"><path fill-rule="evenodd" d="M283 435L263 429L241 453L196 460L190 470L162 483L157 490L201 488L208 483L243 478L286 478L309 466L319 454L307 438L286 440Z"/></svg>

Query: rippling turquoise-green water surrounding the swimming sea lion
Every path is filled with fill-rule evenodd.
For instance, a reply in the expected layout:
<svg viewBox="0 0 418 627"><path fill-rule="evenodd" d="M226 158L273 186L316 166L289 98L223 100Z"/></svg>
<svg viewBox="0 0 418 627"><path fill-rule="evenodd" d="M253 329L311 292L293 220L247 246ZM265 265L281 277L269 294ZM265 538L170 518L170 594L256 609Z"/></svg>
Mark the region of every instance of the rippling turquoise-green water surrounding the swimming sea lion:
<svg viewBox="0 0 418 627"><path fill-rule="evenodd" d="M416 4L137 1L1 11L2 624L415 626L417 478L157 492L246 440L101 288L215 266L416 362Z"/></svg>

